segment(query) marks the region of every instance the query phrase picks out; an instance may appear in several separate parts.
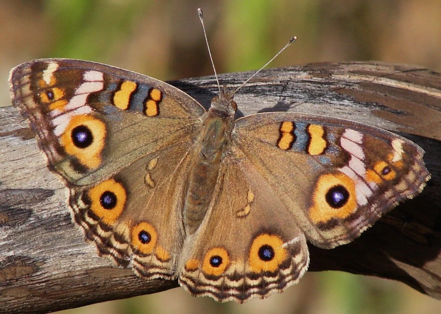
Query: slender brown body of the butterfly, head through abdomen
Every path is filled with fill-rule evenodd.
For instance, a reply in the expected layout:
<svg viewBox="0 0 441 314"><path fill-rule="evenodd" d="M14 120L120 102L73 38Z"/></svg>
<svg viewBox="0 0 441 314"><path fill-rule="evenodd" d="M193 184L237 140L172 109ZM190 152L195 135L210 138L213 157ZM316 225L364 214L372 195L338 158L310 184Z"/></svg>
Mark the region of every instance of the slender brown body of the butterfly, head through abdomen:
<svg viewBox="0 0 441 314"><path fill-rule="evenodd" d="M237 105L233 97L233 93L222 91L213 98L209 111L202 117L185 199L184 222L189 234L198 229L212 200L222 157L234 127Z"/></svg>

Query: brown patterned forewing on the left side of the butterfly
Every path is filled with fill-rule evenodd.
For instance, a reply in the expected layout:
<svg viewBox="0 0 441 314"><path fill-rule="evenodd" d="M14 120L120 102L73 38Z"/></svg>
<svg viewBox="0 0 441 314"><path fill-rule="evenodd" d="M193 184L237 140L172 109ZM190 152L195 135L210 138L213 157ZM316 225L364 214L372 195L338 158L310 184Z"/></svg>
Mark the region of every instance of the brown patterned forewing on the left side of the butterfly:
<svg viewBox="0 0 441 314"><path fill-rule="evenodd" d="M9 82L52 169L75 185L194 133L205 112L167 83L89 61L30 61L12 69Z"/></svg>

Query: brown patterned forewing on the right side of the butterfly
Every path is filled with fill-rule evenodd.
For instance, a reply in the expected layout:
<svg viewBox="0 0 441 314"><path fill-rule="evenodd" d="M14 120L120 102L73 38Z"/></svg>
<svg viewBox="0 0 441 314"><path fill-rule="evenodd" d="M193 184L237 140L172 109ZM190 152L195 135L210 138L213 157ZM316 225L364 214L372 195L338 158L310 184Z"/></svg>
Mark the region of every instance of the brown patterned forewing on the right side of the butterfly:
<svg viewBox="0 0 441 314"><path fill-rule="evenodd" d="M318 247L352 241L430 178L419 146L354 121L272 112L243 117L235 130L233 147Z"/></svg>

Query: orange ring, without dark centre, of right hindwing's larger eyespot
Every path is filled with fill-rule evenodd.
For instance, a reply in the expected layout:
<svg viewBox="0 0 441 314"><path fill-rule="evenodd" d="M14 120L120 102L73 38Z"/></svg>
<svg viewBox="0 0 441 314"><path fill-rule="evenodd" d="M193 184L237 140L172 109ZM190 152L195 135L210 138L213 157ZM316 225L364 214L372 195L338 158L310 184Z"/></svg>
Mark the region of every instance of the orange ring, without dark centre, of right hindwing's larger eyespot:
<svg viewBox="0 0 441 314"><path fill-rule="evenodd" d="M283 243L280 236L269 235L267 233L257 236L251 244L250 254L248 256L248 265L251 271L254 273L275 271L288 257L286 248L282 247ZM270 261L264 261L259 257L259 250L265 245L268 245L274 251L274 257Z"/></svg>

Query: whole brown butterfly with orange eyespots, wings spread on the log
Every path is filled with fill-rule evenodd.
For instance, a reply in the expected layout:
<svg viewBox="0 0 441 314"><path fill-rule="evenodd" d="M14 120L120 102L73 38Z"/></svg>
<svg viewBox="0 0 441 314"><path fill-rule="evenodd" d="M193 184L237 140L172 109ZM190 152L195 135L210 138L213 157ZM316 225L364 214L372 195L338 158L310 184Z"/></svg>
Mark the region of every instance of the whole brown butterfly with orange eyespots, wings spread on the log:
<svg viewBox="0 0 441 314"><path fill-rule="evenodd" d="M308 268L307 241L351 242L430 179L406 138L311 114L235 119L227 89L206 111L165 82L70 59L20 64L9 82L86 240L221 302L282 292Z"/></svg>

